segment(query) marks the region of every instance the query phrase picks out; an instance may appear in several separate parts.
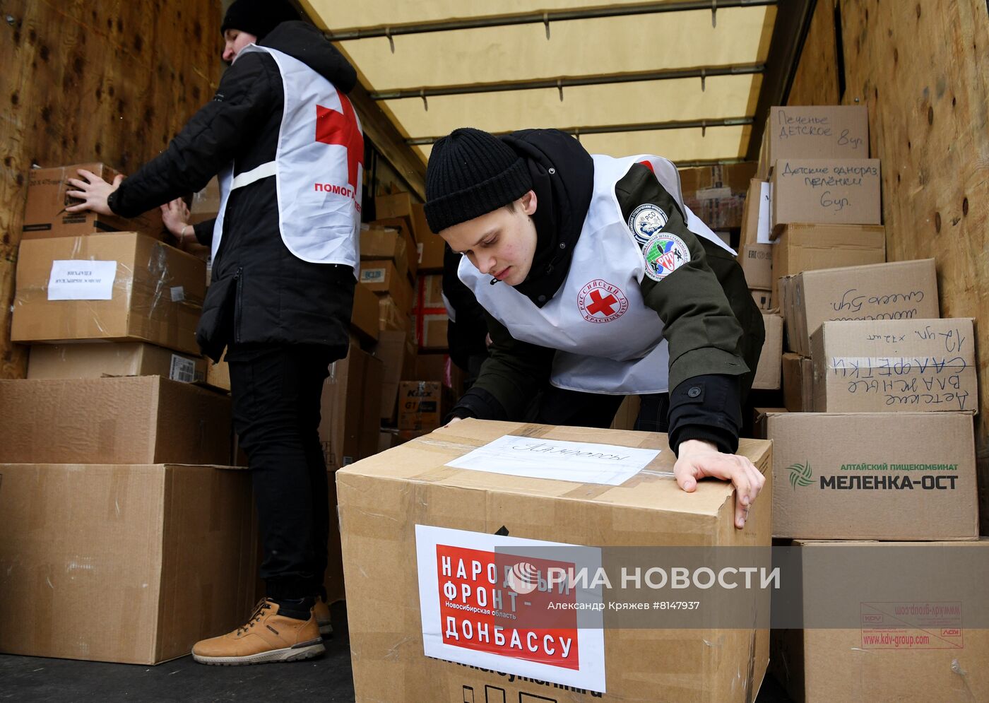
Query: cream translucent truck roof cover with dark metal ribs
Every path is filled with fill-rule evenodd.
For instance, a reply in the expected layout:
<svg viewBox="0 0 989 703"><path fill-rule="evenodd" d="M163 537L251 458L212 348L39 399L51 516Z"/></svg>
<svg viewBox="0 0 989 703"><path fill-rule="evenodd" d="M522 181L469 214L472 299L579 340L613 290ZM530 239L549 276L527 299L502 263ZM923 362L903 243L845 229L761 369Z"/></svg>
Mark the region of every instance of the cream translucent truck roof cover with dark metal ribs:
<svg viewBox="0 0 989 703"><path fill-rule="evenodd" d="M614 155L737 160L758 130L777 12L777 0L302 3L423 161L462 126L556 128Z"/></svg>

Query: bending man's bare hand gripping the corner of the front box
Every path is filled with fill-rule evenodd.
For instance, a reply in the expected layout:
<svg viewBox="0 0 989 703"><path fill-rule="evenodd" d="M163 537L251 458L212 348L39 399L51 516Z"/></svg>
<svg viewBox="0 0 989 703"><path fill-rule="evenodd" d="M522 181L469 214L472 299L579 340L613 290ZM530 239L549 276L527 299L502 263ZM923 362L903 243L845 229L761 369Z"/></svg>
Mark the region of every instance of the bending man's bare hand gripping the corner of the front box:
<svg viewBox="0 0 989 703"><path fill-rule="evenodd" d="M679 458L674 464L676 483L693 492L701 479L712 478L735 484L735 527L745 527L752 505L763 489L765 477L756 465L737 454L723 454L710 442L688 439L680 442Z"/></svg>

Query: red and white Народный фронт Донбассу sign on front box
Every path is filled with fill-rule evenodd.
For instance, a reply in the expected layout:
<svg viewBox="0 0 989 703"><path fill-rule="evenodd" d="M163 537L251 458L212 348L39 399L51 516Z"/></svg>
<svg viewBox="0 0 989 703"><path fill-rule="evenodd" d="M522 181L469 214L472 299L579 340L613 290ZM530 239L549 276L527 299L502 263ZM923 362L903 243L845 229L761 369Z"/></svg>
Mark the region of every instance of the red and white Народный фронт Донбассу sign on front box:
<svg viewBox="0 0 989 703"><path fill-rule="evenodd" d="M601 586L565 575L599 548L416 525L415 552L426 657L605 692Z"/></svg>

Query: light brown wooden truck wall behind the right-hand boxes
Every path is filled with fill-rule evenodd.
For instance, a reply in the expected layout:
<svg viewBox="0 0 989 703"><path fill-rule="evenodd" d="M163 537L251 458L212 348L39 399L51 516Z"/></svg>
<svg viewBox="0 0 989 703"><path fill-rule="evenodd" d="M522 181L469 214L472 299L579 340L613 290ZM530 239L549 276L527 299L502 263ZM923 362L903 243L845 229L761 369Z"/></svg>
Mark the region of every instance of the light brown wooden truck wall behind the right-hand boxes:
<svg viewBox="0 0 989 703"><path fill-rule="evenodd" d="M790 105L838 98L835 0L818 0ZM989 534L989 8L985 0L840 0L847 87L881 159L890 261L938 262L941 313L976 318L975 419Z"/></svg>

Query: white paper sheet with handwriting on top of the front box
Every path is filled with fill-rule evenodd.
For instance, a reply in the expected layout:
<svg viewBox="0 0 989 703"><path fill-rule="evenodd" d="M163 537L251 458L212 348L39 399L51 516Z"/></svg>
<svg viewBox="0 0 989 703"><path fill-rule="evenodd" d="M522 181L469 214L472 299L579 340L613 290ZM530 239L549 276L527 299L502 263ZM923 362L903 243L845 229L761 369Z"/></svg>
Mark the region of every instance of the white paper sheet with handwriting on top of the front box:
<svg viewBox="0 0 989 703"><path fill-rule="evenodd" d="M447 466L527 479L621 485L645 469L660 451L508 434Z"/></svg>

